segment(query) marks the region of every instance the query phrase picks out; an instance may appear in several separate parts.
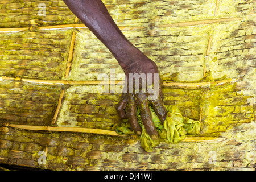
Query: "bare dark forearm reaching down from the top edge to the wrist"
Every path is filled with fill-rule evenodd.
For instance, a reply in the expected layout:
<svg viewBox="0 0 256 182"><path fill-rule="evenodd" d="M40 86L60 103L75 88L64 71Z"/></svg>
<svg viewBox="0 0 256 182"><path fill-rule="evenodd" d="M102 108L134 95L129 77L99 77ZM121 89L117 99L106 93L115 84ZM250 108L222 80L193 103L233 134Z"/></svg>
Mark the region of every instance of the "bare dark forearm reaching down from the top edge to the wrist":
<svg viewBox="0 0 256 182"><path fill-rule="evenodd" d="M101 0L63 0L68 8L101 40L125 70L142 52L125 38Z"/></svg>

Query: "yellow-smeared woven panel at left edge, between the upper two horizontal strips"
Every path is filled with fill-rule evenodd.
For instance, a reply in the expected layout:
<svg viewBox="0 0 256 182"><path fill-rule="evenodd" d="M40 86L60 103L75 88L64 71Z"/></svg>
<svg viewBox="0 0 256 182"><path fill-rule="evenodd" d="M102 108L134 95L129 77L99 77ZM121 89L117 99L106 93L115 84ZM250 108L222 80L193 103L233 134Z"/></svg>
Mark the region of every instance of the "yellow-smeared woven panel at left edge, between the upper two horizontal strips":
<svg viewBox="0 0 256 182"><path fill-rule="evenodd" d="M71 30L1 32L1 76L65 78L71 35Z"/></svg>

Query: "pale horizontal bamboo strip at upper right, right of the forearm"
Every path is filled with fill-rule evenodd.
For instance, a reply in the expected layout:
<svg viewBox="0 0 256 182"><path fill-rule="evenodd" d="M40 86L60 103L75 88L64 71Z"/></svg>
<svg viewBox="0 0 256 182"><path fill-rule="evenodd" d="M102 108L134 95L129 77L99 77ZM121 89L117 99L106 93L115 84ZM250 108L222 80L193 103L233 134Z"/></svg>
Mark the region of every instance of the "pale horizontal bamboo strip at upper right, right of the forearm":
<svg viewBox="0 0 256 182"><path fill-rule="evenodd" d="M213 24L213 23L223 23L223 22L230 22L241 20L242 17L238 18L220 18L220 19L207 19L207 20L197 20L191 22L178 22L178 23L171 23L171 24L160 24L159 28L167 28L167 27L186 27L186 26L196 26L199 24Z"/></svg>

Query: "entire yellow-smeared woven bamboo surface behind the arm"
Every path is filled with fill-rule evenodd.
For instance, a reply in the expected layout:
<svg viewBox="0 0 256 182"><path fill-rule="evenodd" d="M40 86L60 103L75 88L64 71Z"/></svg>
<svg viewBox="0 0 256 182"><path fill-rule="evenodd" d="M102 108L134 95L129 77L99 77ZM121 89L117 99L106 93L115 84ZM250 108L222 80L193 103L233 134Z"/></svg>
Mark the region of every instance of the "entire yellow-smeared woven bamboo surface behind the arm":
<svg viewBox="0 0 256 182"><path fill-rule="evenodd" d="M63 1L2 0L0 164L255 170L255 1L103 2L123 34L158 65L164 105L200 129L177 143L162 134L150 152L149 138L116 135L123 71L110 51ZM113 73L115 85L100 92L100 75L110 81Z"/></svg>

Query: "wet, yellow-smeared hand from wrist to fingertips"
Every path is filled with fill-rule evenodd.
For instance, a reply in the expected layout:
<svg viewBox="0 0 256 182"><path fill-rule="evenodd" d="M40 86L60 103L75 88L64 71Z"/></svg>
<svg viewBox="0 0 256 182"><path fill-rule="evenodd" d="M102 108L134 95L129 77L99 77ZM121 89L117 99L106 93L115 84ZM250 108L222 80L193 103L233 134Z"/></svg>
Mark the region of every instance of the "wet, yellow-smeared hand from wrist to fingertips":
<svg viewBox="0 0 256 182"><path fill-rule="evenodd" d="M136 117L137 106L139 106L143 125L150 137L155 140L158 139L158 132L152 121L149 105L154 108L163 123L166 119L167 110L162 102L162 81L158 75L158 67L154 61L144 55L137 60L138 61L134 61L133 64L129 65L129 67L126 67L124 70L126 75L126 87L117 105L117 111L122 119L127 118L129 120L131 128L135 133L141 135L142 129ZM138 75L135 76L135 73L141 75L141 79L139 79ZM151 75L148 73L151 73ZM152 80L152 82L150 80ZM139 89L136 88L136 81L137 83L139 82ZM157 85L155 85L156 82ZM144 85L147 85L146 90L143 88ZM152 89L148 89L148 86L154 86L154 92L152 92Z"/></svg>

